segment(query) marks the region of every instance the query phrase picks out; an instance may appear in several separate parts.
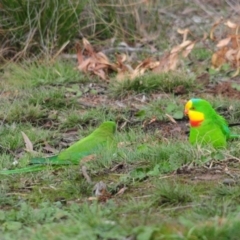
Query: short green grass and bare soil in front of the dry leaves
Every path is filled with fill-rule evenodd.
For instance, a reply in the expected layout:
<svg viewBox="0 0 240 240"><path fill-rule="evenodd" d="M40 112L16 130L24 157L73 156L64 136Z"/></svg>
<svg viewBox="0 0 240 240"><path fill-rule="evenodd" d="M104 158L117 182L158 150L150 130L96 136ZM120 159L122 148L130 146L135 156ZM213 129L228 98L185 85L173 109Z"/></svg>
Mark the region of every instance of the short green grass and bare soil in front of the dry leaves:
<svg viewBox="0 0 240 240"><path fill-rule="evenodd" d="M109 85L73 67L59 60L5 69L1 169L27 164L21 131L49 155L114 120L119 147L84 163L92 183L81 166L1 176L2 239L237 239L239 142L221 151L188 143L183 104L201 88L196 80L182 72ZM176 96L180 85L185 94ZM237 121L234 99L198 96ZM92 191L100 181L109 195L97 200Z"/></svg>

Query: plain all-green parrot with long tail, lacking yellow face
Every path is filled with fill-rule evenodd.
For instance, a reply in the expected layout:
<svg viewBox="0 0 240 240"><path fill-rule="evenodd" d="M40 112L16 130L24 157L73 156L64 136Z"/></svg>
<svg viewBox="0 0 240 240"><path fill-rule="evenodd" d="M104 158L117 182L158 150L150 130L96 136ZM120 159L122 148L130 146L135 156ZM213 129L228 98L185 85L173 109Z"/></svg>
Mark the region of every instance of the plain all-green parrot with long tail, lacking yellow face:
<svg viewBox="0 0 240 240"><path fill-rule="evenodd" d="M0 174L36 172L44 169L46 165L79 164L83 157L94 154L99 149L109 147L109 145L113 144L115 131L115 122L103 122L90 135L61 151L58 155L47 158L33 158L29 162L30 166L13 170L2 170Z"/></svg>

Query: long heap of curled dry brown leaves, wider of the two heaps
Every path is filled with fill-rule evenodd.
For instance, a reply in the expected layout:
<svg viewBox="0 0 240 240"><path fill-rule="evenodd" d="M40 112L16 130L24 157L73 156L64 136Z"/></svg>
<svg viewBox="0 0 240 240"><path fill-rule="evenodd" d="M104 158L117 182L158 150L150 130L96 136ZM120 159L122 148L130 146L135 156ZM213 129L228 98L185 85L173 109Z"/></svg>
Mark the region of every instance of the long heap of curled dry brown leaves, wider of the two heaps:
<svg viewBox="0 0 240 240"><path fill-rule="evenodd" d="M94 52L92 45L84 38L84 49L81 51L77 46L78 69L85 73L95 74L103 80L108 79L109 71L115 71L117 72L117 81L135 79L148 70L154 72L175 70L178 66L179 54L182 53L183 57L187 57L195 45L195 42L187 40L189 29L178 29L178 32L183 35L183 42L180 45L173 47L170 53L165 54L160 61L147 58L134 69L127 63L128 56L126 54L117 55L116 63L111 63L104 53Z"/></svg>

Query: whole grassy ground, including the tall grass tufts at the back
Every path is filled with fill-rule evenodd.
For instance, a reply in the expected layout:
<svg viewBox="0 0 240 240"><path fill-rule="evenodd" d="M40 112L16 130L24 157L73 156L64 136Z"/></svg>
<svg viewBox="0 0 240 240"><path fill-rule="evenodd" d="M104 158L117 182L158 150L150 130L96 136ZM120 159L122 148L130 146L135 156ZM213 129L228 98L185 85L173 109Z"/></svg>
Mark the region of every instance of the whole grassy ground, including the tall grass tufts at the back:
<svg viewBox="0 0 240 240"><path fill-rule="evenodd" d="M75 54L82 36L99 49L140 43L162 56L182 41L178 28L201 39L216 18L238 19L234 1L60 2L0 4L0 170L56 154L105 120L118 125L118 148L79 166L1 175L0 239L238 239L240 143L193 147L183 116L186 101L202 97L229 123L239 122L239 77L229 66L210 69L216 43L198 42L175 72L120 82L83 75L59 57L60 49ZM148 55L131 53L136 65ZM22 132L36 153L26 151ZM96 198L100 182L107 193Z"/></svg>

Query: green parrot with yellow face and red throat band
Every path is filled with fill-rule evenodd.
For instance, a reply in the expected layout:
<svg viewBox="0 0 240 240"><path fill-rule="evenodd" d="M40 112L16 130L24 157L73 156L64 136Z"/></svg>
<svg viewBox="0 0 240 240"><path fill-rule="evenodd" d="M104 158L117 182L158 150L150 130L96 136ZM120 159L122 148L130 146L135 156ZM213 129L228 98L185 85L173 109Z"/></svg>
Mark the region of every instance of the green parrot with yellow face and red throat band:
<svg viewBox="0 0 240 240"><path fill-rule="evenodd" d="M227 140L240 138L240 135L231 134L227 121L204 99L189 100L184 112L189 117L189 141L192 144L209 144L215 148L224 148Z"/></svg>

